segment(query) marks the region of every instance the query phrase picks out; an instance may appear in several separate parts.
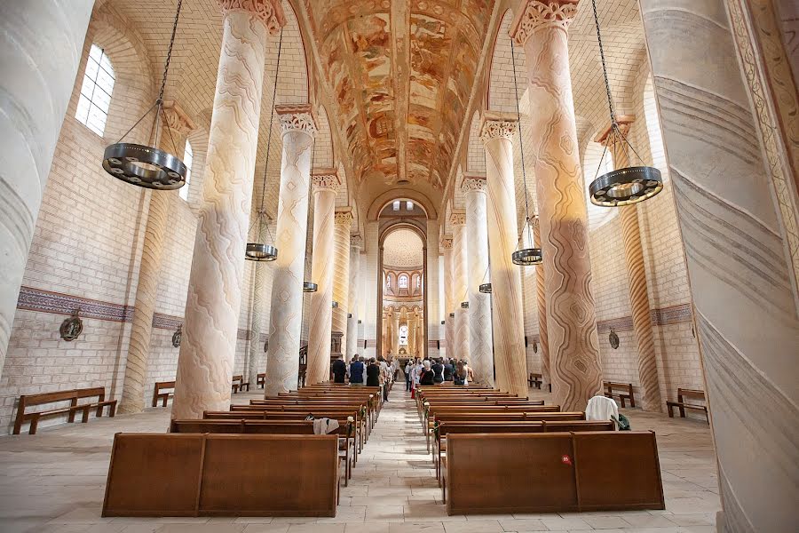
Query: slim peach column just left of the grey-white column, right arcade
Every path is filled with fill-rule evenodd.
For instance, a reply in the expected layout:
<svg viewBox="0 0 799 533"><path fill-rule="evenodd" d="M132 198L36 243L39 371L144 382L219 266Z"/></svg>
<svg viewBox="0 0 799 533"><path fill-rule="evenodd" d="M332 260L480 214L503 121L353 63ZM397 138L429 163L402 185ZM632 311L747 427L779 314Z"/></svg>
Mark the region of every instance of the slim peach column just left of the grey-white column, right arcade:
<svg viewBox="0 0 799 533"><path fill-rule="evenodd" d="M466 213L453 211L449 219L453 225L452 279L453 307L455 310L455 357L467 359L471 364L469 345L469 309L463 309L462 302L469 301L469 267L466 263ZM475 367L477 368L477 367Z"/></svg>

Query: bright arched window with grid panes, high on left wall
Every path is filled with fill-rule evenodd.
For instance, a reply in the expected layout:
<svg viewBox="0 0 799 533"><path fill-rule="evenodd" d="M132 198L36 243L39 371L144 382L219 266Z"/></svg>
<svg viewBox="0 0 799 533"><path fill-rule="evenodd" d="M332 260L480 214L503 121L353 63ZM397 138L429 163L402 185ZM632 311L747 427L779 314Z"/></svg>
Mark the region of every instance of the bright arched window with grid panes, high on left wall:
<svg viewBox="0 0 799 533"><path fill-rule="evenodd" d="M78 99L75 118L100 137L106 130L115 79L114 68L106 52L97 44L92 44L89 57L86 58L86 70L83 73L81 97Z"/></svg>

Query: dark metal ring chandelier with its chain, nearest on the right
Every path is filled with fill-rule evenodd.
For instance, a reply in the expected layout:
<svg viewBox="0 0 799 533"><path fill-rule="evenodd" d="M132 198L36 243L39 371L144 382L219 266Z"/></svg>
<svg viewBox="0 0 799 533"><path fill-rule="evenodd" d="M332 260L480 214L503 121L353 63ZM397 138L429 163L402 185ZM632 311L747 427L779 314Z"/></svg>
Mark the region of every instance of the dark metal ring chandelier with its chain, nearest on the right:
<svg viewBox="0 0 799 533"><path fill-rule="evenodd" d="M636 152L636 149L629 143L627 137L621 132L619 123L616 121L616 111L613 108L613 98L610 92L610 83L607 80L607 67L605 65L605 49L602 46L602 35L599 32L599 15L597 14L597 0L591 0L594 8L594 26L597 28L597 42L599 43L599 57L602 60L602 76L605 77L605 92L607 93L607 107L610 111L611 130L605 139L605 149L599 159L597 173L589 187L591 203L603 207L620 207L633 203L643 202L663 190L663 179L661 171L646 166L644 160ZM606 172L597 178L599 169L602 168L602 161L605 159L605 152L609 146L621 146L629 161L629 152L632 152L641 162L641 166L631 166L614 171Z"/></svg>

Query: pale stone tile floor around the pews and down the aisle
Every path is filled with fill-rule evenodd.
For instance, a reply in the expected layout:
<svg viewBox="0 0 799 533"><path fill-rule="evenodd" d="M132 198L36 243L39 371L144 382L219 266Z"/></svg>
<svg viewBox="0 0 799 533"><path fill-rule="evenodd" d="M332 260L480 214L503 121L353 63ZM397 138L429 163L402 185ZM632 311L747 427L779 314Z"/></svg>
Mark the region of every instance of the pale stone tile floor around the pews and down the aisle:
<svg viewBox="0 0 799 533"><path fill-rule="evenodd" d="M624 410L653 429L665 511L447 516L414 404L395 388L343 488L336 518L100 517L116 432L162 432L168 409L0 437L0 533L493 533L526 531L710 532L719 510L716 464L704 421ZM258 393L237 394L247 402ZM534 391L546 398L548 394Z"/></svg>

